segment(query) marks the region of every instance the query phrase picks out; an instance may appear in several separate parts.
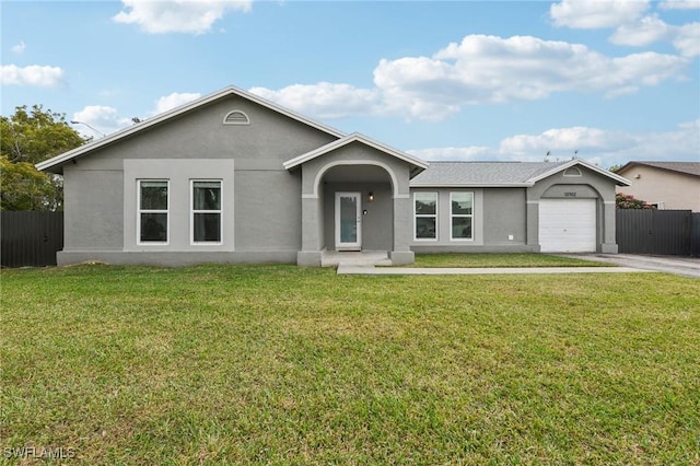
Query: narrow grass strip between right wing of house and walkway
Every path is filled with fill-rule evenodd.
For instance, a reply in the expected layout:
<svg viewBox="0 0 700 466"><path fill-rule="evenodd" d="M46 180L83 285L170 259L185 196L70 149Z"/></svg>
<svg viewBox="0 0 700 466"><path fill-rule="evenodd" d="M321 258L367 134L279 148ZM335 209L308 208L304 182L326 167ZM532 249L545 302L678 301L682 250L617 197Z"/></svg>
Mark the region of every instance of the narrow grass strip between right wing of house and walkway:
<svg viewBox="0 0 700 466"><path fill-rule="evenodd" d="M615 267L598 263L548 254L445 253L417 254L416 264L406 267Z"/></svg>

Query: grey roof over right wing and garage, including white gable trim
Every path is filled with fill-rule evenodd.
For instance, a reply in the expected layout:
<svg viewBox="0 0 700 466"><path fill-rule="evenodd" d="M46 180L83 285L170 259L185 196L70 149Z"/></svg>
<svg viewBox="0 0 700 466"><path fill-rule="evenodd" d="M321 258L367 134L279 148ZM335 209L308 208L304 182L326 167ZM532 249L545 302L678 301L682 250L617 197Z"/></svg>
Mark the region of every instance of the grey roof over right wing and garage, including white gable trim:
<svg viewBox="0 0 700 466"><path fill-rule="evenodd" d="M428 170L416 176L411 187L528 187L535 183L581 165L611 178L618 185L630 182L580 159L567 162L431 162Z"/></svg>

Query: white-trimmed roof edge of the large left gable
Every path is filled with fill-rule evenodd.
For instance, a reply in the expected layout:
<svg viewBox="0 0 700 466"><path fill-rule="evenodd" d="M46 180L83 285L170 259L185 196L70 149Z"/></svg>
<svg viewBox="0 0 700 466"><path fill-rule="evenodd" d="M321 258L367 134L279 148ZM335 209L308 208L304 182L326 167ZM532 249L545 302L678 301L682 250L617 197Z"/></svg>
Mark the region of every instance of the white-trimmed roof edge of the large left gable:
<svg viewBox="0 0 700 466"><path fill-rule="evenodd" d="M342 138L346 136L345 132L331 128L329 126L326 126L322 123L315 121L311 118L307 118L303 115L300 115L295 112L290 110L289 108L284 108L280 105L275 104L273 102L270 102L266 98L262 98L258 95L252 94L247 91L244 91L242 89L238 89L236 86L230 85L228 88L222 89L221 91L214 92L212 94L209 95L205 95L203 97L197 98L192 102L189 102L187 104L180 105L178 107L175 107L171 110L164 112L162 114L155 115L154 117L148 118L139 124L136 124L133 126L130 126L128 128L124 128L119 131L113 132L110 135L105 136L104 138L101 139L95 139L91 142L88 142L86 144L83 144L79 148L75 148L71 151L65 152L62 154L59 154L52 159L46 160L44 162L37 163L36 164L36 168L39 171L51 171L50 168L52 167L58 167L58 170L54 170L56 173L61 173L60 166L62 166L65 163L70 162L71 160L81 156L81 155L85 155L90 152L93 152L97 149L101 149L105 145L109 145L122 138L126 138L128 136L135 135L137 132L143 131L152 126L159 125L167 119L177 117L179 115L183 115L185 113L191 112L196 108L199 108L203 105L210 104L212 102L215 102L218 100L231 96L231 95L237 95L240 97L246 98L250 102L255 102L256 104L262 105L264 107L270 108L279 114L285 115L292 119L295 119L298 121L301 121L305 125L308 125L313 128L316 128L320 131L327 132L329 135L332 135L337 138ZM51 172L54 172L51 171Z"/></svg>

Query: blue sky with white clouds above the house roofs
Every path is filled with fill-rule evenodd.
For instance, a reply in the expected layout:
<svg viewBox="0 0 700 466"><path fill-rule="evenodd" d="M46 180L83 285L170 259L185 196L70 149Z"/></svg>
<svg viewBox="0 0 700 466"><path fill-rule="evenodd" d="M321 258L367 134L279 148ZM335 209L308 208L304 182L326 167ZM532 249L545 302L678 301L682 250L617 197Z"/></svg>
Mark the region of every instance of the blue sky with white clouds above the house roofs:
<svg viewBox="0 0 700 466"><path fill-rule="evenodd" d="M233 84L427 160L700 161L700 0L0 9L5 116L108 133Z"/></svg>

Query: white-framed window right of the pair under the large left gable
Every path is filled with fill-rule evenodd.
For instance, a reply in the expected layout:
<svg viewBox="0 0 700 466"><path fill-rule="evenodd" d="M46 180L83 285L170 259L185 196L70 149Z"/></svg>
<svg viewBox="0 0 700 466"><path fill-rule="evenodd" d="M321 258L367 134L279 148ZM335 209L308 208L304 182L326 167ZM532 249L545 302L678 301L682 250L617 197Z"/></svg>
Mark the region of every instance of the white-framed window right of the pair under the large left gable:
<svg viewBox="0 0 700 466"><path fill-rule="evenodd" d="M221 182L192 180L192 243L221 243Z"/></svg>

